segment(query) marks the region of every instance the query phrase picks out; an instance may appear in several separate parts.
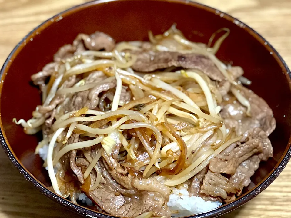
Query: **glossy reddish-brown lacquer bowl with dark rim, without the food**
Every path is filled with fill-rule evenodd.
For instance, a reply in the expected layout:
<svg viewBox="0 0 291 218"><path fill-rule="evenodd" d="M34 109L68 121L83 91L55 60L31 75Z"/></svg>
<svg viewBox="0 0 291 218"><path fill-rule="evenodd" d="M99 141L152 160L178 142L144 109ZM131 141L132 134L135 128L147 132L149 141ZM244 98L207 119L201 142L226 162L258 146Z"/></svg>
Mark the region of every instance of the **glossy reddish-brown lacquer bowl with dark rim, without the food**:
<svg viewBox="0 0 291 218"><path fill-rule="evenodd" d="M226 27L230 35L217 56L242 66L253 81L250 89L265 99L274 111L276 130L270 135L274 157L262 162L244 194L217 210L192 216L217 217L238 208L263 191L290 159L291 91L290 70L277 51L258 33L242 22L213 8L186 0L94 1L76 6L45 21L31 31L8 56L1 70L0 141L12 163L24 177L49 198L79 214L112 217L75 205L48 190L48 174L42 160L34 155L40 137L23 133L12 123L17 117L28 120L41 104L40 93L31 86L30 76L52 61L64 44L71 44L78 33L103 31L116 41L148 40L147 34L161 34L173 23L192 41L207 43L216 30Z"/></svg>

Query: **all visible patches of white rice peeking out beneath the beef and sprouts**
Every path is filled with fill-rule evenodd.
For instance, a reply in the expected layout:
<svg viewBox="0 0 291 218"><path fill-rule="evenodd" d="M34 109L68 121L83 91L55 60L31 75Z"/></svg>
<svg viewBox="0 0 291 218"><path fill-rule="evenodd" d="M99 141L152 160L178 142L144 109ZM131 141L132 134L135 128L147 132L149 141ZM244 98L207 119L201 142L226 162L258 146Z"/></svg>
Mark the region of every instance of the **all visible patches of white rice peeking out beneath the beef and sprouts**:
<svg viewBox="0 0 291 218"><path fill-rule="evenodd" d="M47 159L48 149L48 145L44 145L39 149L38 154L44 161ZM45 169L47 170L47 167L45 167ZM55 169L55 172L56 171ZM201 197L189 196L186 189L172 189L173 193L169 196L168 206L171 210L179 210L179 213L172 215L174 218L204 213L222 205L219 201L205 201ZM86 203L88 206L94 205L84 193L81 193L77 199L82 201L82 203Z"/></svg>

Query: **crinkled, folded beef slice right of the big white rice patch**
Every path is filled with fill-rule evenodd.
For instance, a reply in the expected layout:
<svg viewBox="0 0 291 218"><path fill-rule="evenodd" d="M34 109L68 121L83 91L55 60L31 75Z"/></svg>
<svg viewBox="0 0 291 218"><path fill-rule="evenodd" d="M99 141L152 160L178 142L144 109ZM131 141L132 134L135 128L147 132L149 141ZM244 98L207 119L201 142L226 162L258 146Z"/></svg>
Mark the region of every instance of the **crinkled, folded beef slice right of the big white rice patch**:
<svg viewBox="0 0 291 218"><path fill-rule="evenodd" d="M236 153L240 154L241 152L240 150L236 150L236 148L232 150L229 155L225 155L224 157L223 155L219 155L213 159L209 165L209 171L203 179L201 193L208 196L221 197L225 202L234 200L235 195L240 196L243 187L249 185L251 181L250 177L254 174L255 170L258 169L259 163L262 160L266 161L269 157L273 156L273 147L263 130L259 128L248 130L244 134L244 138L242 140L246 141L244 144L256 144L259 142L260 146L262 146L262 151L259 154L249 157L241 163L239 163L239 159L242 160L243 156L234 157ZM251 147L252 145L248 144L248 146ZM233 156L233 160L229 160L231 156ZM234 167L234 164L237 166ZM234 169L236 169L236 171L232 174ZM228 179L221 173L228 173L232 176Z"/></svg>

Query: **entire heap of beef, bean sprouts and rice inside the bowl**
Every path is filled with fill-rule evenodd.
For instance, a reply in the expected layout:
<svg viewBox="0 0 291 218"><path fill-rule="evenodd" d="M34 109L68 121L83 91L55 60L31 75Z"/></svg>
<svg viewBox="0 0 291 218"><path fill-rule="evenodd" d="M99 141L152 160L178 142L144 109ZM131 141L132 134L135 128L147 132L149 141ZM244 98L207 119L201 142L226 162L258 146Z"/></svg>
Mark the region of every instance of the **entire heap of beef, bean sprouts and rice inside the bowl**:
<svg viewBox="0 0 291 218"><path fill-rule="evenodd" d="M122 217L181 217L239 197L273 156L266 102L242 84L239 66L173 25L149 42L79 34L32 81L42 105L13 121L42 131L35 149L54 192ZM215 39L217 39L215 41ZM213 45L213 46L212 46Z"/></svg>

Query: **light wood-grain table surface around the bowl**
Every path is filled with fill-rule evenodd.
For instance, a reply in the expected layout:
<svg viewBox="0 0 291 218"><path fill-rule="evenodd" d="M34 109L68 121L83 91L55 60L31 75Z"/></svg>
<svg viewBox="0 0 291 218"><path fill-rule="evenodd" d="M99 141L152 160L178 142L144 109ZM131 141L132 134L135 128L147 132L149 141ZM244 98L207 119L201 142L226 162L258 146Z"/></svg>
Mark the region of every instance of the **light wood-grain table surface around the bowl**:
<svg viewBox="0 0 291 218"><path fill-rule="evenodd" d="M85 0L0 0L0 65L42 21ZM199 0L250 25L291 65L290 0ZM291 217L291 163L255 199L223 218ZM49 200L26 181L0 149L0 218L81 217Z"/></svg>

